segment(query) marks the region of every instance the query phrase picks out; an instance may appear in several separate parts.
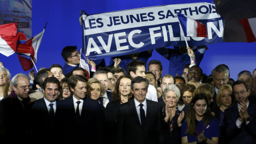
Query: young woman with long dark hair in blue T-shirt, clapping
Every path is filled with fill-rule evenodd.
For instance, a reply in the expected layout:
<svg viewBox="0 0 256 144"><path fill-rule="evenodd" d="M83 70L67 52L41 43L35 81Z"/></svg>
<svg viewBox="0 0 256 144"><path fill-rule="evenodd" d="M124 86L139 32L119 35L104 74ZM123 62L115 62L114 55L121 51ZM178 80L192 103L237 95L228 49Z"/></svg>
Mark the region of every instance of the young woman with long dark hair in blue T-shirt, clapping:
<svg viewBox="0 0 256 144"><path fill-rule="evenodd" d="M208 99L205 94L197 93L181 126L181 143L217 144L219 137L218 121L211 114Z"/></svg>

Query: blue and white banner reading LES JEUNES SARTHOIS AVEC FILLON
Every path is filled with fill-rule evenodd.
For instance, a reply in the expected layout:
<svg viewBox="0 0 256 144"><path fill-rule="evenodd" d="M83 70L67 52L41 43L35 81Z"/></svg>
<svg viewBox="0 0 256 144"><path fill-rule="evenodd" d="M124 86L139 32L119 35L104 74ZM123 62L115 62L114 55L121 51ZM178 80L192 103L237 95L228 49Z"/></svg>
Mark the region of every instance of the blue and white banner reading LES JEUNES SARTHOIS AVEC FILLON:
<svg viewBox="0 0 256 144"><path fill-rule="evenodd" d="M207 27L207 38L186 37L188 45L222 42L224 20L210 3L145 7L89 15L81 11L83 49L89 59L102 59L158 47L185 46L175 13L182 13Z"/></svg>

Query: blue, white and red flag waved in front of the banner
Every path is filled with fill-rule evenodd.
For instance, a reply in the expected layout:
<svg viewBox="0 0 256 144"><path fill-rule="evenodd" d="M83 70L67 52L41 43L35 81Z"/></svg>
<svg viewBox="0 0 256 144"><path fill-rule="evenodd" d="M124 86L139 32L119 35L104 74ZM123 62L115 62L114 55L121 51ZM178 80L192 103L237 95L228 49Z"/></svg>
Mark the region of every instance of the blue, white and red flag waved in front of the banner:
<svg viewBox="0 0 256 144"><path fill-rule="evenodd" d="M177 17L185 36L207 37L207 29L205 25L181 13L177 13Z"/></svg>

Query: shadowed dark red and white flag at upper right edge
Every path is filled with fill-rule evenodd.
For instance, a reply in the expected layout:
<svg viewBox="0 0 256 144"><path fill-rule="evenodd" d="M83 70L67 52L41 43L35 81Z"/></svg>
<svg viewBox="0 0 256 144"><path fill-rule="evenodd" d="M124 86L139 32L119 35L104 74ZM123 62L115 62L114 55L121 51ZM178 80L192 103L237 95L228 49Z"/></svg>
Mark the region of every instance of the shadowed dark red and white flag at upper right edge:
<svg viewBox="0 0 256 144"><path fill-rule="evenodd" d="M246 42L251 43L256 41L256 18L239 20L245 31Z"/></svg>

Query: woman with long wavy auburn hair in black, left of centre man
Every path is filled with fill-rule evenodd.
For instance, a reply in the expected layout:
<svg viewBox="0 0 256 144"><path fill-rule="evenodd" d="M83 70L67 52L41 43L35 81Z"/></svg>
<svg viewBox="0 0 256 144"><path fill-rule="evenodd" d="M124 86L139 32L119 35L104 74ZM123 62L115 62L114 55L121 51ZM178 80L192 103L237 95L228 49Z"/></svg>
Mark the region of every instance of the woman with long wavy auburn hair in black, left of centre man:
<svg viewBox="0 0 256 144"><path fill-rule="evenodd" d="M116 116L120 105L132 100L131 93L132 77L129 75L120 76L117 79L116 86L112 92L113 101L110 101L105 110L105 122L106 122L106 143L115 143L116 135Z"/></svg>

